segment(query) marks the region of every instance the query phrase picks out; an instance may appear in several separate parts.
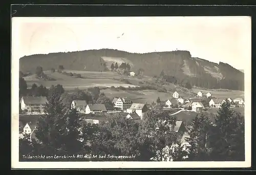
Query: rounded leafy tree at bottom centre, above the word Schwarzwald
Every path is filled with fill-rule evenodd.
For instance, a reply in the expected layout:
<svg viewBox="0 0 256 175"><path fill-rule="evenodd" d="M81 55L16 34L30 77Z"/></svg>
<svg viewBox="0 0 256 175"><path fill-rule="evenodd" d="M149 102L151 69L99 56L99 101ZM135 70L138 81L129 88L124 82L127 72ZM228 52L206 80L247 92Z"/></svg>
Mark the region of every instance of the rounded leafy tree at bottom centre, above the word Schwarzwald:
<svg viewBox="0 0 256 175"><path fill-rule="evenodd" d="M88 125L87 125L88 126ZM86 134L84 140L91 140L91 148L94 155L139 155L139 146L137 142L137 133L139 128L139 123L133 119L126 119L120 114L114 114L109 116L106 121L98 126L98 129L84 128L83 133ZM87 133L88 130L94 130L94 138L90 138ZM138 159L138 156L135 158ZM106 161L105 159L98 159L98 161ZM136 161L134 159L122 158L122 159L110 159L110 161ZM95 160L94 160L95 161Z"/></svg>

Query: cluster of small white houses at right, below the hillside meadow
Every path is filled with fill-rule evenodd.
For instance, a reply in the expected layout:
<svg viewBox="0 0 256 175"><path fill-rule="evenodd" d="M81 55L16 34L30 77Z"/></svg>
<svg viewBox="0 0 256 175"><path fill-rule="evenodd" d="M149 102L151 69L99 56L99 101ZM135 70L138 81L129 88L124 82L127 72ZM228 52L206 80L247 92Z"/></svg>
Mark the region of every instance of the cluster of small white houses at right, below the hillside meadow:
<svg viewBox="0 0 256 175"><path fill-rule="evenodd" d="M184 108L191 108L191 111L198 112L201 109L205 108L204 104L202 103L203 97L207 99L207 106L209 107L216 107L219 108L222 103L229 102L232 105L238 104L238 106L243 107L244 106L244 99L243 98L236 98L236 99L216 99L212 98L211 93L207 93L205 96L203 96L203 93L199 91L197 93L196 97L185 99L182 96L179 96L179 93L175 91L173 93L173 97L165 101L165 106L163 108L178 108L178 107L184 107Z"/></svg>

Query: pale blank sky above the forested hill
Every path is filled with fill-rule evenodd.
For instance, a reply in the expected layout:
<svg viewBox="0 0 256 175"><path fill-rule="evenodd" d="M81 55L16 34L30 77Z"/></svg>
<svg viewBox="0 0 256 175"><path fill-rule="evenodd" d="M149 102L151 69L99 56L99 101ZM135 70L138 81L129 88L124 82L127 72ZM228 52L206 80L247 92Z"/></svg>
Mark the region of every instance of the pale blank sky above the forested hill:
<svg viewBox="0 0 256 175"><path fill-rule="evenodd" d="M14 59L103 48L132 53L187 50L193 57L245 69L251 61L251 19L247 16L12 18Z"/></svg>

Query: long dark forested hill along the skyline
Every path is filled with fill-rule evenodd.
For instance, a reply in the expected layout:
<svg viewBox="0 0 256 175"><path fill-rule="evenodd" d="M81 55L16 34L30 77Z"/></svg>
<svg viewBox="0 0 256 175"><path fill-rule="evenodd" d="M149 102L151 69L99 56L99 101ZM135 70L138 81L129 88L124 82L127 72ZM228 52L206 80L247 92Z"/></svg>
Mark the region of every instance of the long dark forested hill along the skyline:
<svg viewBox="0 0 256 175"><path fill-rule="evenodd" d="M210 54L210 53L209 53ZM131 71L159 76L175 83L187 83L209 89L244 90L244 73L229 64L191 57L189 51L129 53L112 49L30 55L20 58L20 71L34 72L63 65L68 70L106 71L112 63L129 63ZM86 67L86 69L84 69Z"/></svg>

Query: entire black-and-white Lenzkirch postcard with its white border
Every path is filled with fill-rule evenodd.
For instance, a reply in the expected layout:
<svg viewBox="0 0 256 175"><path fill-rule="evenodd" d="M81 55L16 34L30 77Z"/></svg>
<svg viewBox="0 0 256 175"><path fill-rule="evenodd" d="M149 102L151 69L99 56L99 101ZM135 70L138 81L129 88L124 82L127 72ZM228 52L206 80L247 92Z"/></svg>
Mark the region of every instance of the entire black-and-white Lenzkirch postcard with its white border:
<svg viewBox="0 0 256 175"><path fill-rule="evenodd" d="M13 17L13 168L251 165L251 18Z"/></svg>

